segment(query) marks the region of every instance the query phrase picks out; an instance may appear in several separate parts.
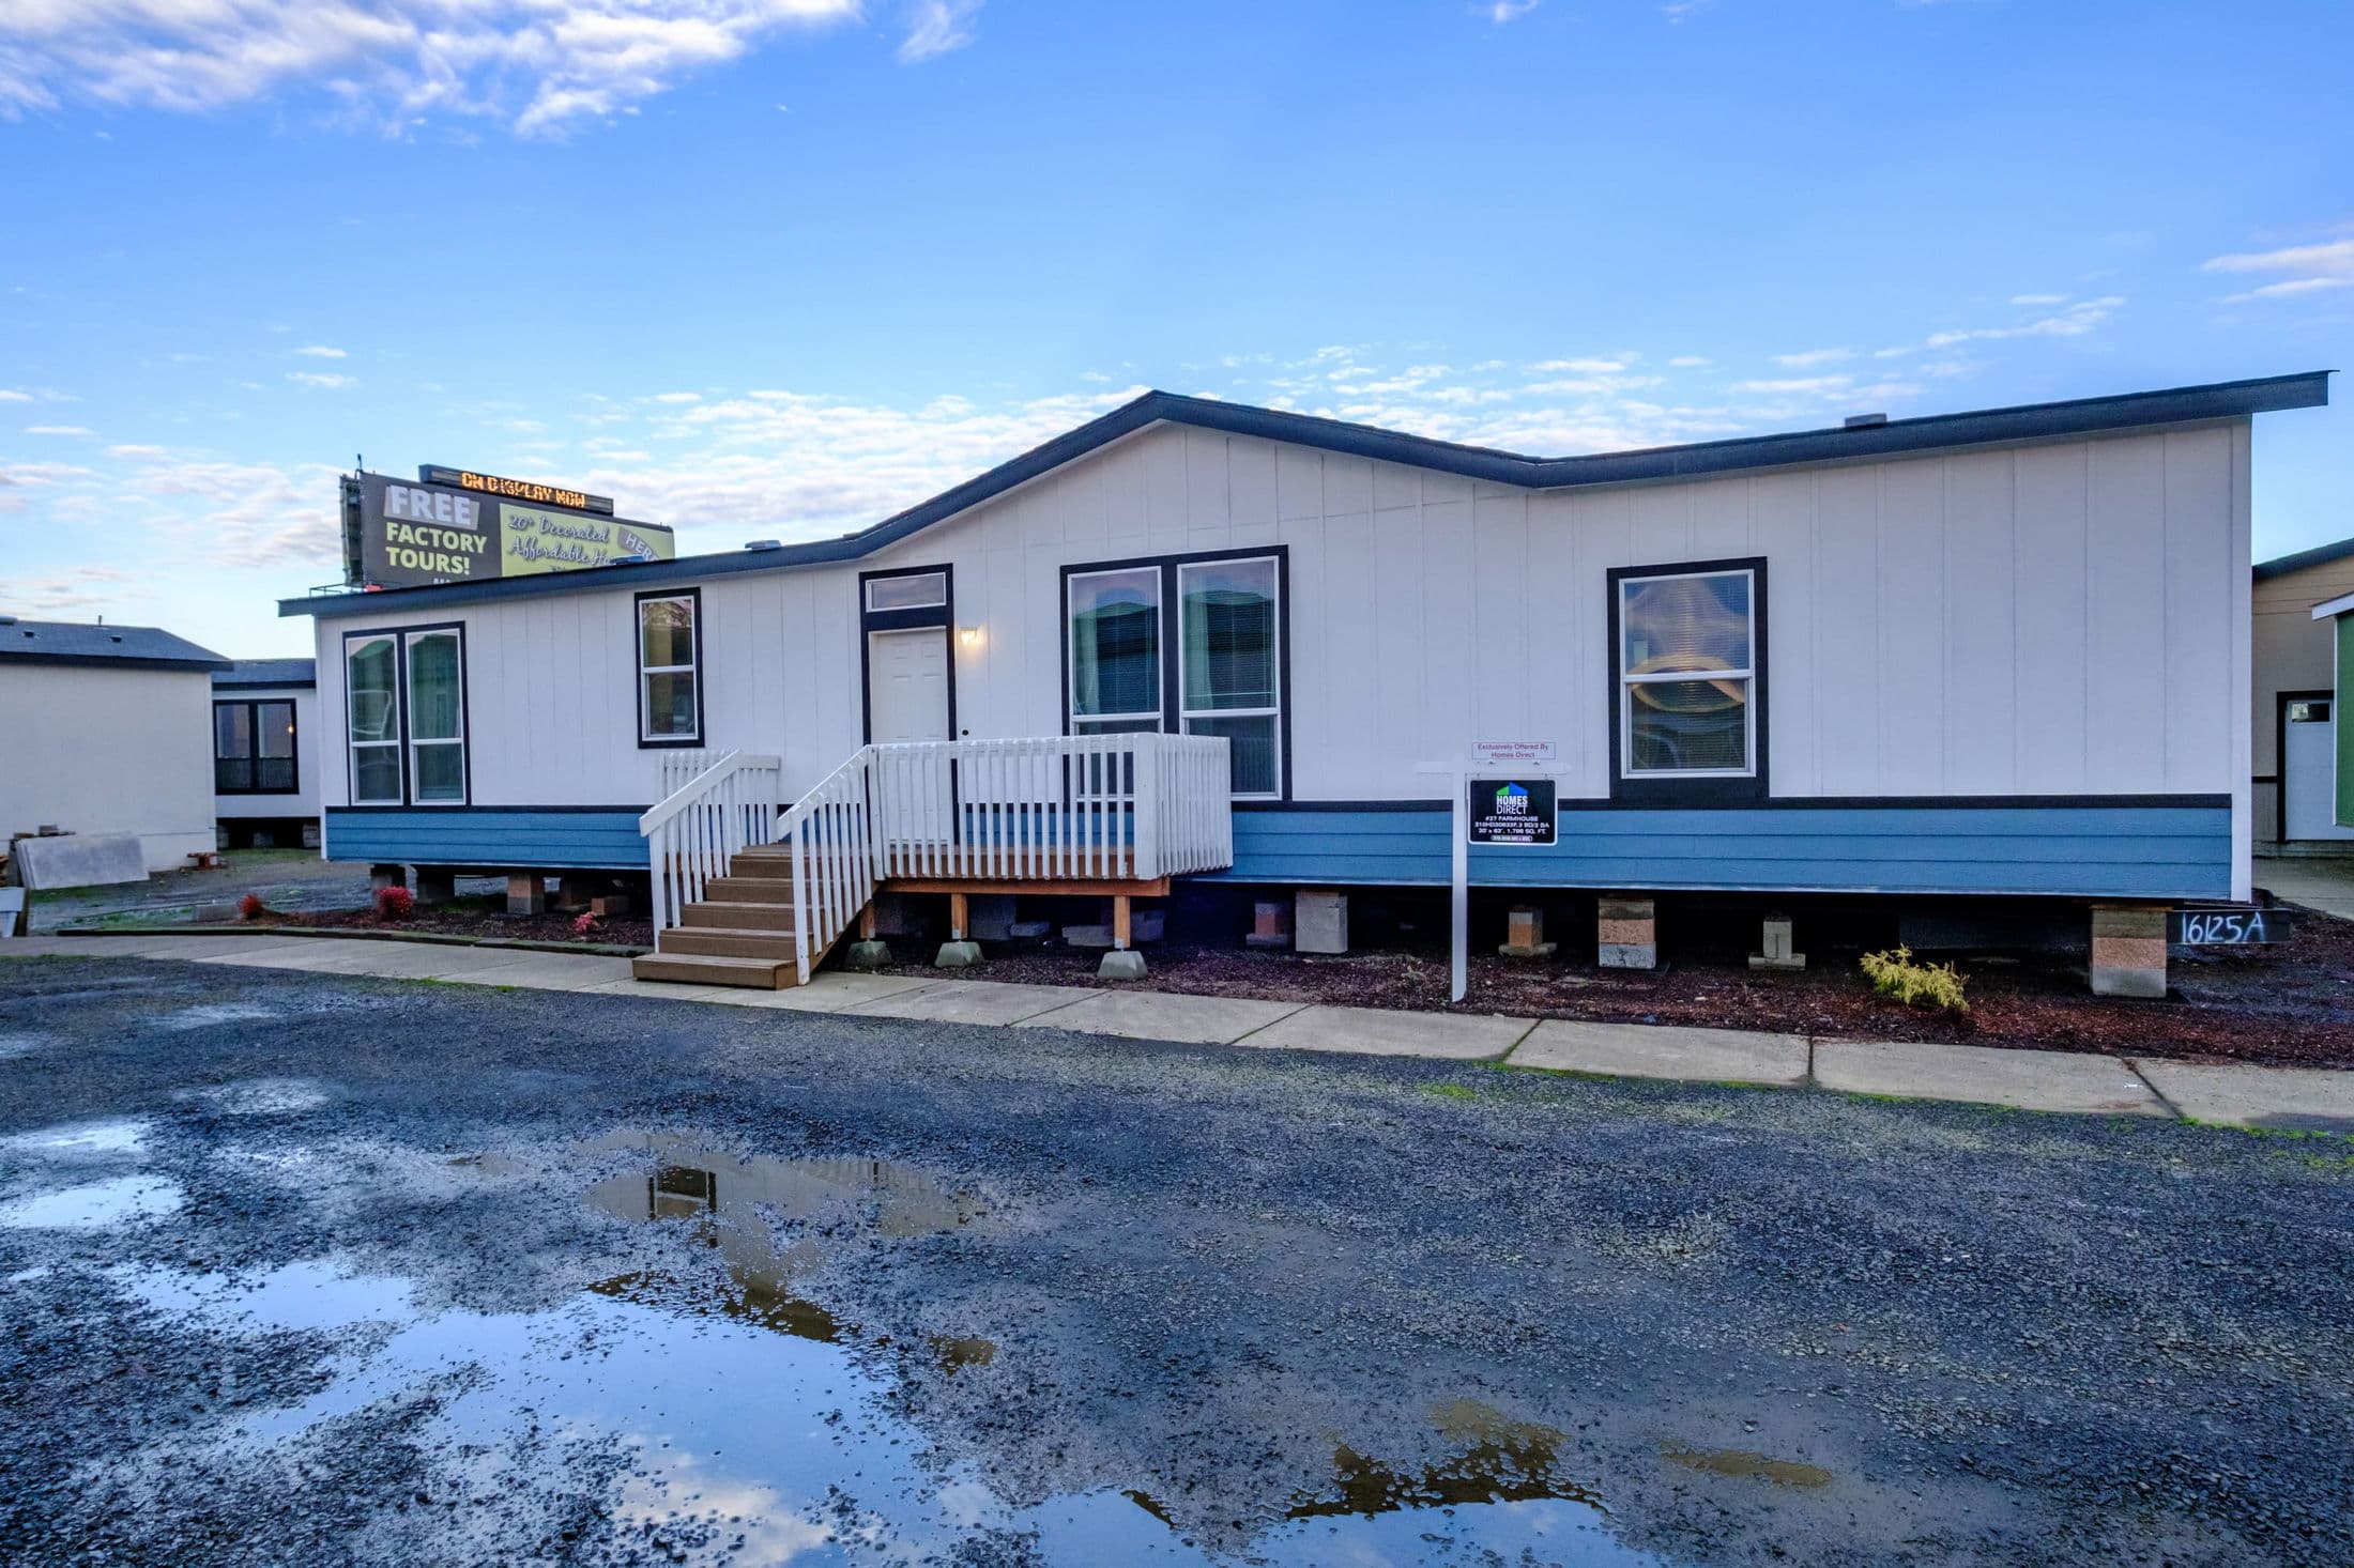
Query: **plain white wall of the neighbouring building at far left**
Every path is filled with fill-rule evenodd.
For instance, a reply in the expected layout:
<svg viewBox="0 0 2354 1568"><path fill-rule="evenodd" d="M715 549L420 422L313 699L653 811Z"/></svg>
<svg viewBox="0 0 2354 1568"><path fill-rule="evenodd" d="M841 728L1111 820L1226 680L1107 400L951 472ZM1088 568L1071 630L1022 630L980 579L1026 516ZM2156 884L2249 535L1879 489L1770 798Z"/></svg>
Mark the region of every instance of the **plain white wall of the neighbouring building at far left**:
<svg viewBox="0 0 2354 1568"><path fill-rule="evenodd" d="M139 833L148 871L212 850L212 676L0 666L0 836Z"/></svg>

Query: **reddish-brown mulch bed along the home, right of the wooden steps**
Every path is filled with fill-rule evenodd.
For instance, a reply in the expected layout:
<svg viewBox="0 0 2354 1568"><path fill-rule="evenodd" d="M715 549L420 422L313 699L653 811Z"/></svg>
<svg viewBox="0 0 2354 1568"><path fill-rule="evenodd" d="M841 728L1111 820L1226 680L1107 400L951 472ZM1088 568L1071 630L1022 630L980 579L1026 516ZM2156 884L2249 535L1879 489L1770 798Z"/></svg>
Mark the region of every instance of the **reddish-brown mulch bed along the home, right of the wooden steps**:
<svg viewBox="0 0 2354 1568"><path fill-rule="evenodd" d="M918 951L920 949L920 951ZM1097 954L1045 946L989 951L972 979L1104 986ZM1125 991L1264 996L1351 1008L1448 1008L1445 951L1342 958L1191 942L1144 949L1151 972ZM1808 954L1803 975L1754 975L1740 958L1669 954L1641 975L1591 958L1471 956L1464 1012L1591 1022L1695 1024L1874 1041L1949 1041L2034 1050L2104 1050L2185 1062L2354 1067L2354 923L2300 911L2295 935L2265 949L2175 949L2166 1001L2114 1001L2086 989L2069 956L1961 958L1966 1017L1916 1012L1871 991L1860 949ZM897 951L899 972L930 970L930 949Z"/></svg>

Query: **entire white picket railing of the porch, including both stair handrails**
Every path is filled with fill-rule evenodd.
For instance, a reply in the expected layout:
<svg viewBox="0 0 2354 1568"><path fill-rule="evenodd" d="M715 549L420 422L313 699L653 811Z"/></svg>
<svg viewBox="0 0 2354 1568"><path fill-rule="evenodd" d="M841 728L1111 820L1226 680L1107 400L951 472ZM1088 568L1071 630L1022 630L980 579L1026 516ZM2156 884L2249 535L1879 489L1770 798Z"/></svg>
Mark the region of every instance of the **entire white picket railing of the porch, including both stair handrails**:
<svg viewBox="0 0 2354 1568"><path fill-rule="evenodd" d="M753 845L791 845L800 979L885 878L1156 881L1233 864L1224 737L1066 735L859 746L777 810L774 756L725 751L638 819L654 939Z"/></svg>

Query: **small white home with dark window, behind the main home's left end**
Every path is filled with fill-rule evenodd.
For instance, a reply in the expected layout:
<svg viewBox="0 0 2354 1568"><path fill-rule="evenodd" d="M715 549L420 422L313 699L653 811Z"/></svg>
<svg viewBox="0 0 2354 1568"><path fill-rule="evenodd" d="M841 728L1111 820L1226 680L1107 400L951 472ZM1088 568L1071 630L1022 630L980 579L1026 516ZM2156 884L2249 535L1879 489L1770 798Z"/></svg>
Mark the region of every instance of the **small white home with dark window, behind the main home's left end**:
<svg viewBox="0 0 2354 1568"><path fill-rule="evenodd" d="M212 815L224 848L318 848L311 659L238 659L212 673Z"/></svg>

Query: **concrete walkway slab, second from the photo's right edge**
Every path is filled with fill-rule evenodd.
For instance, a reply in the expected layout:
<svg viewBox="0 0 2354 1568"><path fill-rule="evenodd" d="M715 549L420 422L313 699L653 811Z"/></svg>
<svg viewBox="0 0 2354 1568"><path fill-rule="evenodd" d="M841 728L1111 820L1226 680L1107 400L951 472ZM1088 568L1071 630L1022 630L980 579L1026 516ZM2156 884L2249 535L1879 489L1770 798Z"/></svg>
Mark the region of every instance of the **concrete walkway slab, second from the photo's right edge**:
<svg viewBox="0 0 2354 1568"><path fill-rule="evenodd" d="M2072 1050L1815 1041L1815 1083L1850 1095L1961 1099L2020 1111L2166 1116L2140 1074L2116 1057Z"/></svg>

